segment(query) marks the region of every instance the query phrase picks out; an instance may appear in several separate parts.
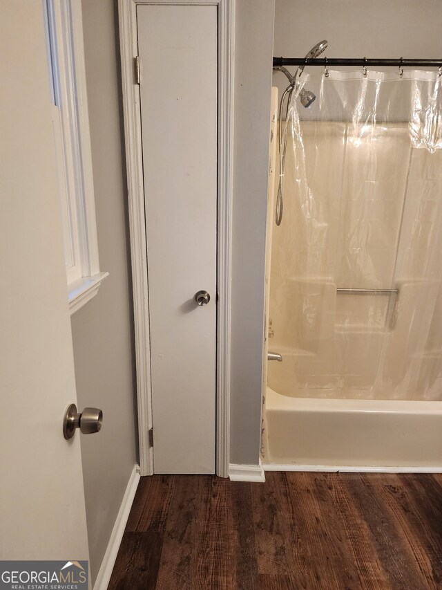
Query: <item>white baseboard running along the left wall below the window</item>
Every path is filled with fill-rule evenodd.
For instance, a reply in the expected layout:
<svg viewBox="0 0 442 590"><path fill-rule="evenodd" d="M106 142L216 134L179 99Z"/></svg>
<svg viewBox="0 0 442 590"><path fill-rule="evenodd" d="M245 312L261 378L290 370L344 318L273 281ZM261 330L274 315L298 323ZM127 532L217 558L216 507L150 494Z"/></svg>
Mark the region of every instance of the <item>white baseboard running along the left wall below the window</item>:
<svg viewBox="0 0 442 590"><path fill-rule="evenodd" d="M108 542L108 548L106 549L106 553L104 553L97 580L95 580L94 590L107 590L109 580L111 580L113 566L115 565L118 549L122 542L124 529L126 528L127 519L131 512L135 492L137 491L138 483L140 483L139 469L138 465L133 466L131 477L129 477L126 487L126 492L124 492L122 505L119 507L117 519L115 520L111 538Z"/></svg>

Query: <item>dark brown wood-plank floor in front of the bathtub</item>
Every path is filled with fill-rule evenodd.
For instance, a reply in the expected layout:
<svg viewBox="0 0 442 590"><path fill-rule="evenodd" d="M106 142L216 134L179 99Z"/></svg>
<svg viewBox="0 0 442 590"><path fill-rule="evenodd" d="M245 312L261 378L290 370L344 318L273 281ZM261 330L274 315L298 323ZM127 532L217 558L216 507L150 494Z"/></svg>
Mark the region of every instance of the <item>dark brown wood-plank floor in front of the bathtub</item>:
<svg viewBox="0 0 442 590"><path fill-rule="evenodd" d="M109 589L442 589L442 475L144 477Z"/></svg>

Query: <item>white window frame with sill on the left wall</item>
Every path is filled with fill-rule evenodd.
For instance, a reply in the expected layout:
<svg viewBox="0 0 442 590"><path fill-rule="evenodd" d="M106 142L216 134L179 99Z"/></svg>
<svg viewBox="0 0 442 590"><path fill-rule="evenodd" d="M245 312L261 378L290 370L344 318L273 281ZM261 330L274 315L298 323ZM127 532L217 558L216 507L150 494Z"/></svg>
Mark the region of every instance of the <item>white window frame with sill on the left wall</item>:
<svg viewBox="0 0 442 590"><path fill-rule="evenodd" d="M50 23L52 121L72 315L97 294L108 273L99 270L81 2L44 3Z"/></svg>

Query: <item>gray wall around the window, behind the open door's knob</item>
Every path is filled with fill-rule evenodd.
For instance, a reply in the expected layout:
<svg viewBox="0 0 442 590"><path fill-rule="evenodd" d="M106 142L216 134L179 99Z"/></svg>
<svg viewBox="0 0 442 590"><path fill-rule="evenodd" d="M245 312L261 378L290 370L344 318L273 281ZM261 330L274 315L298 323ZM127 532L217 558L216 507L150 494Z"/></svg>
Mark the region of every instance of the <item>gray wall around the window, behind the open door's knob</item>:
<svg viewBox="0 0 442 590"><path fill-rule="evenodd" d="M99 259L110 273L72 318L79 407L104 413L102 431L81 436L95 581L136 461L135 379L115 7L112 0L84 0L82 7Z"/></svg>

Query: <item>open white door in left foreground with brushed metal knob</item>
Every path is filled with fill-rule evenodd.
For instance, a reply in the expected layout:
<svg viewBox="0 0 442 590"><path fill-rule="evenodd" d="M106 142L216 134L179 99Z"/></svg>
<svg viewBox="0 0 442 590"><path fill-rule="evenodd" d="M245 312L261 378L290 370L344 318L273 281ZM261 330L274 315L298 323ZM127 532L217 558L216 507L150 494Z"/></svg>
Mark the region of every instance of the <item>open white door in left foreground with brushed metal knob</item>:
<svg viewBox="0 0 442 590"><path fill-rule="evenodd" d="M0 23L0 559L88 560L42 3Z"/></svg>

